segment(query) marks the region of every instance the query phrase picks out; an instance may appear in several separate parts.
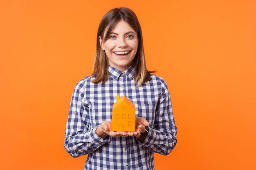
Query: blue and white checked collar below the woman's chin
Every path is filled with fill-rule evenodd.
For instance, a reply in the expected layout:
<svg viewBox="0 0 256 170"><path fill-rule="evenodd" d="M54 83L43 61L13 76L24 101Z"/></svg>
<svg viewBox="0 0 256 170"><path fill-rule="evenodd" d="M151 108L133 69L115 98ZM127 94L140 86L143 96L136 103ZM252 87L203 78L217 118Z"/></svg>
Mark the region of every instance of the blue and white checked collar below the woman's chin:
<svg viewBox="0 0 256 170"><path fill-rule="evenodd" d="M132 64L125 71L120 71L117 68L108 65L108 72L109 72L109 75L116 80L119 79L122 73L125 73L127 77L129 77L130 79L133 79L135 77L135 66L134 64Z"/></svg>

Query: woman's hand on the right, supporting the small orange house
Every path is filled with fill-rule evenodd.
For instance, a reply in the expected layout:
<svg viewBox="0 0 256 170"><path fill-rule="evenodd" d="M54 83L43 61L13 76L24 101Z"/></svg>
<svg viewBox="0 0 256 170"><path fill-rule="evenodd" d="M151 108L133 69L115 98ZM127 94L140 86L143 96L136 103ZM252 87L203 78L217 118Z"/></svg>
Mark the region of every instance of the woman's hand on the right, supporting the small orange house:
<svg viewBox="0 0 256 170"><path fill-rule="evenodd" d="M140 137L140 134L146 131L145 126L149 125L144 117L137 117L135 124L135 132L127 132L128 136Z"/></svg>

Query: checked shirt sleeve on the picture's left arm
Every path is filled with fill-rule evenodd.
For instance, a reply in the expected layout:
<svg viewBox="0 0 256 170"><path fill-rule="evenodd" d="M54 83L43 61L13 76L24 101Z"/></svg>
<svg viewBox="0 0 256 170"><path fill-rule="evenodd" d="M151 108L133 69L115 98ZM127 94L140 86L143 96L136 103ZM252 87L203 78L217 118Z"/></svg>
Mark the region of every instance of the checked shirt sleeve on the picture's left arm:
<svg viewBox="0 0 256 170"><path fill-rule="evenodd" d="M64 147L72 157L91 153L110 141L109 136L102 139L96 134L98 126L89 129L89 115L83 102L84 89L83 81L74 88L65 129Z"/></svg>

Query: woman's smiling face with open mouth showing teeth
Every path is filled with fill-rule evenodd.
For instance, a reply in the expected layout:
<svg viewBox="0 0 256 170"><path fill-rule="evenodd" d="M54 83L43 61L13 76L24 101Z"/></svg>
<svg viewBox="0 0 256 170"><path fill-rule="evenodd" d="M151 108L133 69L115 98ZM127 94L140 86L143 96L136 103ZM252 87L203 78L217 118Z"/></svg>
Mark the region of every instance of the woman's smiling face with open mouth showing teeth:
<svg viewBox="0 0 256 170"><path fill-rule="evenodd" d="M103 42L99 37L99 42L110 66L124 71L132 64L138 49L138 38L137 33L127 22L117 22L110 35L106 37L106 41Z"/></svg>

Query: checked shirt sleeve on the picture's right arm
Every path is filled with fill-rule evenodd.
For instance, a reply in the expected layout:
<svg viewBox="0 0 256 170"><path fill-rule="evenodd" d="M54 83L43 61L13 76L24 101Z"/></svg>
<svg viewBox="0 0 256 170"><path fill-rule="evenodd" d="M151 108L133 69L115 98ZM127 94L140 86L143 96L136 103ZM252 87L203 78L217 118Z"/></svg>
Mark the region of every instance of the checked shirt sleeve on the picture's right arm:
<svg viewBox="0 0 256 170"><path fill-rule="evenodd" d="M148 135L141 146L147 147L152 152L168 155L177 143L177 127L173 117L171 97L164 80L161 86L162 93L155 110L155 123L153 127L149 127Z"/></svg>

